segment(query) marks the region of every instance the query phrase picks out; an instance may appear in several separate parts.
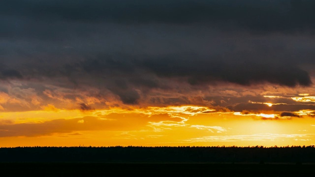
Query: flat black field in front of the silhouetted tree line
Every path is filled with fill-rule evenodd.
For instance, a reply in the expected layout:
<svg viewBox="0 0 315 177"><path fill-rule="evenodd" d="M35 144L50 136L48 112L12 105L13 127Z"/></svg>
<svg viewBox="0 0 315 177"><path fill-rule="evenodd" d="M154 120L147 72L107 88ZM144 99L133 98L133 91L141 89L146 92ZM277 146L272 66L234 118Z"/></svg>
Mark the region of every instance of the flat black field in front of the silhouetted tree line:
<svg viewBox="0 0 315 177"><path fill-rule="evenodd" d="M312 177L311 164L0 163L1 177Z"/></svg>

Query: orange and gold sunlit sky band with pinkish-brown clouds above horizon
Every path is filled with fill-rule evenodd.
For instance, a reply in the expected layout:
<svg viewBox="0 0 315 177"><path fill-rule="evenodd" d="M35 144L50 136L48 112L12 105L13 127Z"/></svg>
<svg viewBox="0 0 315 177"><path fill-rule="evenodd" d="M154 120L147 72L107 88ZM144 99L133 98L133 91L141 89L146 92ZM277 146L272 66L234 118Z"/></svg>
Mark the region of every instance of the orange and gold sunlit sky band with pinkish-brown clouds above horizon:
<svg viewBox="0 0 315 177"><path fill-rule="evenodd" d="M17 83L9 93L0 91L1 147L315 144L311 87L157 89L128 105L114 95L97 97L81 90L45 89L40 95L13 87Z"/></svg>

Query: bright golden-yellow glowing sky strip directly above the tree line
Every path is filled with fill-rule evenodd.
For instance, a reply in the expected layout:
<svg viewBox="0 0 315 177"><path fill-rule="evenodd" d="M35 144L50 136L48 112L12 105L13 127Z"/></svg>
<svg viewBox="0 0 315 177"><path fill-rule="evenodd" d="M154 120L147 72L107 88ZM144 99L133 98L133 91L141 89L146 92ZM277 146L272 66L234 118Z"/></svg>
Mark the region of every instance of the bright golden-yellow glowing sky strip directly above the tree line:
<svg viewBox="0 0 315 177"><path fill-rule="evenodd" d="M0 113L0 142L3 147L311 145L315 128L308 116L314 111L294 113L305 118L277 121L276 112L221 113L191 105L86 112L48 105Z"/></svg>

